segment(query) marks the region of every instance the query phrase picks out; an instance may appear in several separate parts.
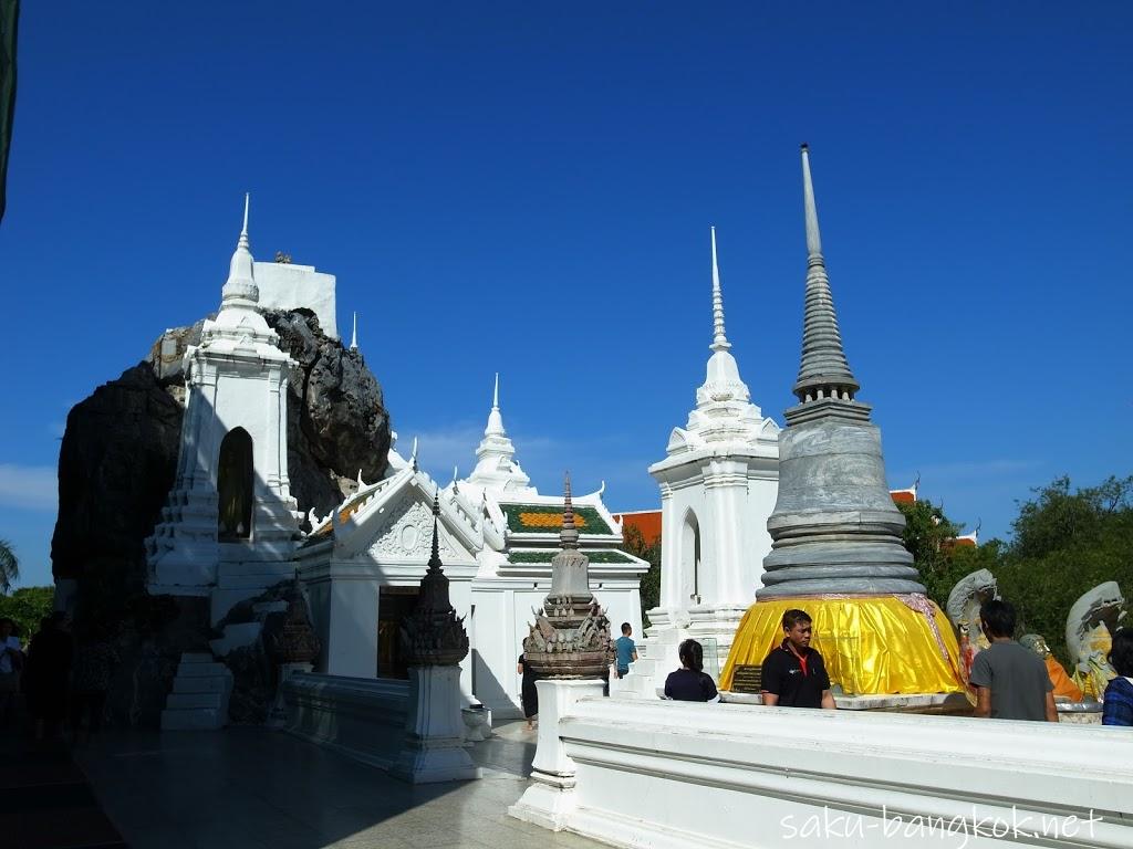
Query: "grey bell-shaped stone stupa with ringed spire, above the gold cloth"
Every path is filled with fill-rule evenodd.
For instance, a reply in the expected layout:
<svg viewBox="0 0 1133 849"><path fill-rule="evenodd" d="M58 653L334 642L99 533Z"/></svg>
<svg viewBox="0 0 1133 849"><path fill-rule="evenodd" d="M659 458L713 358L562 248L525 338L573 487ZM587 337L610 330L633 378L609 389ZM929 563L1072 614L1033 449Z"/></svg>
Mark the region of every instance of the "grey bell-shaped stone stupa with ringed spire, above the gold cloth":
<svg viewBox="0 0 1133 849"><path fill-rule="evenodd" d="M780 434L772 552L756 598L923 593L901 541L905 520L889 497L880 430L870 406L854 398L859 384L842 349L806 145L802 179L808 258L799 403Z"/></svg>

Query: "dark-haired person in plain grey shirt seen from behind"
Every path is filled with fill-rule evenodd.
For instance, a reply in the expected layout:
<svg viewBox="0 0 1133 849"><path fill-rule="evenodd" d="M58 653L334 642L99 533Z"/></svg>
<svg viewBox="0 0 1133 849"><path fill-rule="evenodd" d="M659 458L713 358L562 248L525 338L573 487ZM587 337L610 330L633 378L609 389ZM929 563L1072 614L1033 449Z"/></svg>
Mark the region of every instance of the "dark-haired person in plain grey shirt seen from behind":
<svg viewBox="0 0 1133 849"><path fill-rule="evenodd" d="M1006 601L986 602L980 608L980 627L991 645L972 663L969 680L976 686L973 715L1057 722L1047 664L1012 638L1015 609Z"/></svg>

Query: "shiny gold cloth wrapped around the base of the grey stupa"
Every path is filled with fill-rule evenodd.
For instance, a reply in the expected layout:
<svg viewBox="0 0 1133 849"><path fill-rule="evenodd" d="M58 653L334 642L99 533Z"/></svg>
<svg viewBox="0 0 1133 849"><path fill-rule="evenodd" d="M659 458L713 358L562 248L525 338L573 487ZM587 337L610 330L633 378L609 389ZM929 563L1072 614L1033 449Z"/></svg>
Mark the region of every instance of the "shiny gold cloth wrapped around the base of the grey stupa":
<svg viewBox="0 0 1133 849"><path fill-rule="evenodd" d="M962 693L960 646L944 612L923 595L821 595L757 601L735 632L719 676L731 689L738 664L760 666L783 642L783 614L810 615L810 645L830 684L847 695ZM934 627L935 626L935 627Z"/></svg>

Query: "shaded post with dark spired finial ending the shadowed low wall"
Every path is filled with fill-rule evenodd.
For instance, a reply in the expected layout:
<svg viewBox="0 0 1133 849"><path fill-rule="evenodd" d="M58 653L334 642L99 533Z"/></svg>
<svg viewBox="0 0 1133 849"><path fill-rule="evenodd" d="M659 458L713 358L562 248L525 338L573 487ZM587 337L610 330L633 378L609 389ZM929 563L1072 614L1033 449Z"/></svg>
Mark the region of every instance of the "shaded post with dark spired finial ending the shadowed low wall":
<svg viewBox="0 0 1133 849"><path fill-rule="evenodd" d="M406 741L390 772L415 784L480 778L463 748L459 663L468 654L468 634L449 601L449 578L441 568L440 513L434 497L433 556L417 607L401 625L401 652L409 662L409 713Z"/></svg>

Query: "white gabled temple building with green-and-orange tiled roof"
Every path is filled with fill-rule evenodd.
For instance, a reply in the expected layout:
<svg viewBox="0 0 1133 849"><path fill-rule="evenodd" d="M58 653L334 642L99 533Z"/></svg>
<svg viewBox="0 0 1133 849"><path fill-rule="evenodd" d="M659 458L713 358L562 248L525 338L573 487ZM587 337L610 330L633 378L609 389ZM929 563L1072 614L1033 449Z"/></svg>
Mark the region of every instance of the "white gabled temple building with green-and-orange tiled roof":
<svg viewBox="0 0 1133 849"><path fill-rule="evenodd" d="M438 541L450 598L465 617L470 652L461 689L496 717L519 715L517 659L551 588L559 550L562 497L544 496L514 460L503 428L499 379L477 465L441 487ZM431 505L438 484L390 449L386 477L317 521L297 554L310 593L312 618L323 644L316 670L355 677L400 677L400 620L411 609L429 557ZM619 547L621 525L602 489L574 498L579 543L590 558L590 581L612 621L641 627L641 575L649 564Z"/></svg>

